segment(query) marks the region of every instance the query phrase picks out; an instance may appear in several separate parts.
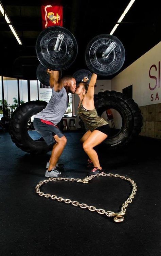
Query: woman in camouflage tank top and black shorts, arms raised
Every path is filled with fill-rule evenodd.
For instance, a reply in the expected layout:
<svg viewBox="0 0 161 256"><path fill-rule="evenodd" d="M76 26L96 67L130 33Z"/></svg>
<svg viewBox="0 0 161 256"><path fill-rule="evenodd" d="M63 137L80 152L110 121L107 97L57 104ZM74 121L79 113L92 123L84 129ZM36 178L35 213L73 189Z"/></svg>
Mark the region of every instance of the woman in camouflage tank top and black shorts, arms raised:
<svg viewBox="0 0 161 256"><path fill-rule="evenodd" d="M89 85L88 79L84 78L79 83L75 93L79 96L78 115L86 124L89 131L87 131L81 138L84 151L89 156L89 160L93 163L93 169L88 175L97 173L103 173L103 169L100 166L99 158L93 147L103 142L109 135L109 124L101 117L98 116L94 107L94 85L96 83L97 75L92 74Z"/></svg>

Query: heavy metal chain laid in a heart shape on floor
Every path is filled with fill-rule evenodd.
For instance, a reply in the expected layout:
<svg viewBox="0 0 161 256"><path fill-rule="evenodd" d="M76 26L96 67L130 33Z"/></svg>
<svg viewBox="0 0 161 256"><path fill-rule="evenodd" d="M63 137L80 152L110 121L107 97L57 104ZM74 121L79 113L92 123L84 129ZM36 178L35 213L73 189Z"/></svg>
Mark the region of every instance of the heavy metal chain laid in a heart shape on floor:
<svg viewBox="0 0 161 256"><path fill-rule="evenodd" d="M112 212L112 211L105 211L104 209L97 209L96 207L92 206L92 205L87 205L86 203L79 203L77 201L72 201L68 198L64 199L62 197L57 197L56 195L51 195L51 194L44 194L42 191L40 191L40 187L44 184L44 183L48 183L50 181L71 181L71 182L79 182L79 183L84 183L84 184L87 184L90 180L92 180L93 178L95 177L99 177L99 176L109 176L109 177L115 177L115 178L120 178L120 179L124 179L126 181L129 181L132 185L132 192L131 192L131 195L127 198L127 200L122 204L122 207L121 207L121 211L120 212ZM128 206L129 203L132 202L132 199L134 198L134 196L136 195L136 191L137 191L137 186L136 186L136 183L131 180L130 178L128 177L125 177L125 176L121 176L119 174L112 174L112 173L103 173L103 174L95 174L95 175L91 175L91 176L87 176L85 177L85 179L81 180L81 179L74 179L74 178L54 178L54 177L51 177L49 178L48 180L44 180L44 181L40 181L37 185L36 185L36 193L39 195L39 196L44 196L46 198L51 198L53 200L57 200L58 202L65 202L67 204L71 203L73 206L79 206L81 207L82 209L88 209L89 211L91 212L97 212L99 214L106 214L107 217L114 217L114 221L115 222L123 222L124 220L124 215L126 213L126 208Z"/></svg>

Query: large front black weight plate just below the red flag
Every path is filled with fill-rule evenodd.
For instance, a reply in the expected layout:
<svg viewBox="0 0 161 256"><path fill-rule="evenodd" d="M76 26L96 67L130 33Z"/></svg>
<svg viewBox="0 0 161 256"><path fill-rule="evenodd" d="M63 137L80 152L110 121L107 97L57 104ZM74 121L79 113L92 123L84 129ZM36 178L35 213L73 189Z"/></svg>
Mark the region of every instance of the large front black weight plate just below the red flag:
<svg viewBox="0 0 161 256"><path fill-rule="evenodd" d="M56 52L54 46L58 34L63 34L64 39L60 51ZM36 41L36 54L41 64L52 70L65 70L76 59L78 46L74 35L66 28L51 26L44 29Z"/></svg>

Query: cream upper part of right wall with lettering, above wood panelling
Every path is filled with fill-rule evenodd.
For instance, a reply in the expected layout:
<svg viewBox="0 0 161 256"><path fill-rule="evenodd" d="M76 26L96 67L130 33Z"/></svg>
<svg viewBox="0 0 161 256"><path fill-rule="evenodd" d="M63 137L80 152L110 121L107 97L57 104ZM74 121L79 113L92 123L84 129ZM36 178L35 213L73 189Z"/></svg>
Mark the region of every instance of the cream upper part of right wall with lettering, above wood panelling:
<svg viewBox="0 0 161 256"><path fill-rule="evenodd" d="M161 103L160 62L161 42L115 76L111 89L122 93L123 88L132 85L133 100L139 106Z"/></svg>

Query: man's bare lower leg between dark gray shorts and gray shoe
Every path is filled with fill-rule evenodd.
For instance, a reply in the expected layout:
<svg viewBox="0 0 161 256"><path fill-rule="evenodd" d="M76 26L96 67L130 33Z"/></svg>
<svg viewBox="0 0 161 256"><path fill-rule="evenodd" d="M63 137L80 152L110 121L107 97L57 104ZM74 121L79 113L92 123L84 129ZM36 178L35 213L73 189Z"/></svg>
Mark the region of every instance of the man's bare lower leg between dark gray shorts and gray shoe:
<svg viewBox="0 0 161 256"><path fill-rule="evenodd" d="M51 171L52 168L56 166L56 163L58 162L59 157L61 156L61 154L67 144L67 139L65 136L59 138L57 135L55 135L54 139L57 143L56 143L56 145L53 146L53 150L52 150L51 158L50 158L50 166L48 168L49 171Z"/></svg>

